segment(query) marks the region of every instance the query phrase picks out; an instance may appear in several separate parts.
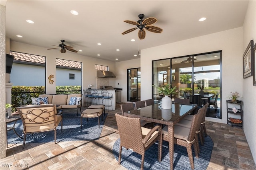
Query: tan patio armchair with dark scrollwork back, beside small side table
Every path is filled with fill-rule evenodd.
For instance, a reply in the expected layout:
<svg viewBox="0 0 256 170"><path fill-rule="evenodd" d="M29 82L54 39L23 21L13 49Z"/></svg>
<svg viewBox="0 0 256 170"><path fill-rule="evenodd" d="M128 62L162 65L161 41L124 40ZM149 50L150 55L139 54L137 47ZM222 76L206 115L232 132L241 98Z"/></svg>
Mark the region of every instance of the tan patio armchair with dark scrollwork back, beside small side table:
<svg viewBox="0 0 256 170"><path fill-rule="evenodd" d="M26 134L39 133L54 130L54 143L56 143L56 127L61 122L62 131L62 113L57 115L55 105L33 105L16 108L20 114L23 123L24 140L22 149L26 142Z"/></svg>

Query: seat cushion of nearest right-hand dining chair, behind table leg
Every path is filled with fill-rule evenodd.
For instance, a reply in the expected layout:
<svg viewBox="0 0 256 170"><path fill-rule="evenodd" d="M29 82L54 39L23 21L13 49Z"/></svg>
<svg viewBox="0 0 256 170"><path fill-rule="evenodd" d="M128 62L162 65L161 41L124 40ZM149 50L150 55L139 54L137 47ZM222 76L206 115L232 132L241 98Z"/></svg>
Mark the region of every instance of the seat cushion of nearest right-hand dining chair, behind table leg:
<svg viewBox="0 0 256 170"><path fill-rule="evenodd" d="M174 137L182 140L188 140L190 128L174 125ZM162 129L162 134L168 136L168 126Z"/></svg>

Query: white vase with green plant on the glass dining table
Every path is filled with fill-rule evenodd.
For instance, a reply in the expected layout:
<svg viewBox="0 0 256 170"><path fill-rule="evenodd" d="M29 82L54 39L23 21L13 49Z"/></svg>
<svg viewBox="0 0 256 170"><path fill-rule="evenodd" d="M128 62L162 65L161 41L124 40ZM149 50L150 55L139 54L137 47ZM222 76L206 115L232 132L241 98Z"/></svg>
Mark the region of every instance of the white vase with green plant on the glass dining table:
<svg viewBox="0 0 256 170"><path fill-rule="evenodd" d="M172 99L169 98L169 95L174 93L176 86L171 87L170 84L163 85L162 87L158 87L155 84L152 85L157 88L159 94L164 94L164 98L162 98L162 109L171 109L172 108Z"/></svg>

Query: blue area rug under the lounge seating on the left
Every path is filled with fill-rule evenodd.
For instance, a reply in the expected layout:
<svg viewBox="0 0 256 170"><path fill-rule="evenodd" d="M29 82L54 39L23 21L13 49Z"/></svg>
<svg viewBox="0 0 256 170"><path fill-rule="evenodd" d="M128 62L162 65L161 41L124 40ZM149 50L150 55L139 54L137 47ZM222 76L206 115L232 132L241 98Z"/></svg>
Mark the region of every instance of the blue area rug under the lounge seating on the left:
<svg viewBox="0 0 256 170"><path fill-rule="evenodd" d="M63 128L61 132L61 124L57 127L56 142L59 141L91 141L98 140L102 132L102 127L106 120L108 113L103 113L103 121L100 117L100 128L98 127L98 118L89 118L86 122L86 118L82 119L82 129L80 128L80 115L63 113ZM8 127L13 127L13 124L8 124ZM23 123L18 120L15 125L16 132L21 136L23 135ZM17 144L23 143L23 139L17 137L13 131L8 131L8 143ZM26 135L26 143L46 143L54 142L54 131L34 133Z"/></svg>

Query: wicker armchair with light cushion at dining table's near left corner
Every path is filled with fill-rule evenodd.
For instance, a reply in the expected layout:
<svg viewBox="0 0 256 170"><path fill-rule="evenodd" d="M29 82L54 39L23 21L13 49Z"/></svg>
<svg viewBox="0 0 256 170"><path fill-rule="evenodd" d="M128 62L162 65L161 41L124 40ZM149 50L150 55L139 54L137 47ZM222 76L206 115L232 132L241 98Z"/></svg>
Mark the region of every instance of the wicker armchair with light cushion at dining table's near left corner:
<svg viewBox="0 0 256 170"><path fill-rule="evenodd" d="M162 126L157 125L153 129L147 129L140 126L139 118L126 117L118 113L116 113L116 122L120 135L119 165L121 163L122 147L125 147L142 155L140 169L143 170L145 151L156 141L158 141L158 161L161 162Z"/></svg>

